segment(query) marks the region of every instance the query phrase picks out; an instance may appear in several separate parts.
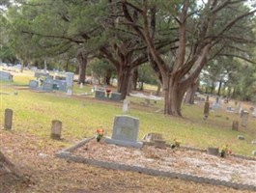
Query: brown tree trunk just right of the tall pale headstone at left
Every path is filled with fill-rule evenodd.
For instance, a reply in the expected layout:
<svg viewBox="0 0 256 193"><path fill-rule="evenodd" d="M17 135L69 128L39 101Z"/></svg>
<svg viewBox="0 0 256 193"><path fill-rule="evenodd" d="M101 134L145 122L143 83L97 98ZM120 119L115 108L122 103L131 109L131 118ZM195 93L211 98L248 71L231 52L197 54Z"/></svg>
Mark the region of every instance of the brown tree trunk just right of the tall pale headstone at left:
<svg viewBox="0 0 256 193"><path fill-rule="evenodd" d="M79 53L76 55L76 58L79 63L78 84L84 84L88 56L83 51L79 51Z"/></svg>

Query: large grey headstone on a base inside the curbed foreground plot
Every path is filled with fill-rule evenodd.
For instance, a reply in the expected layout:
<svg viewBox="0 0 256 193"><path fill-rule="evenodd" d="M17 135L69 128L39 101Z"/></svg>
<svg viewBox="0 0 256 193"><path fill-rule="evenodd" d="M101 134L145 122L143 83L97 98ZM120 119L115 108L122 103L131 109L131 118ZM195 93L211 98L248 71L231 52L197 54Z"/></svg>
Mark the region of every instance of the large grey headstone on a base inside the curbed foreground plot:
<svg viewBox="0 0 256 193"><path fill-rule="evenodd" d="M105 142L120 146L142 148L142 143L137 142L139 120L130 116L115 116L112 137Z"/></svg>

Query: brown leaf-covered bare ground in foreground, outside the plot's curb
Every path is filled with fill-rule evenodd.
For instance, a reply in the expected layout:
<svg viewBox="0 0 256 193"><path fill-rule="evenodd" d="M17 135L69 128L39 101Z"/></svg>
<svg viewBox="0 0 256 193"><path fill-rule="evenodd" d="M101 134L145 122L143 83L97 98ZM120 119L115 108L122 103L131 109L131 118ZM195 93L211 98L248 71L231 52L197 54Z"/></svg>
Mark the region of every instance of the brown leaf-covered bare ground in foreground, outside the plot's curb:
<svg viewBox="0 0 256 193"><path fill-rule="evenodd" d="M22 183L6 176L1 193L251 192L73 163L54 156L64 148L59 142L28 133L0 130L0 139L0 150L30 178Z"/></svg>

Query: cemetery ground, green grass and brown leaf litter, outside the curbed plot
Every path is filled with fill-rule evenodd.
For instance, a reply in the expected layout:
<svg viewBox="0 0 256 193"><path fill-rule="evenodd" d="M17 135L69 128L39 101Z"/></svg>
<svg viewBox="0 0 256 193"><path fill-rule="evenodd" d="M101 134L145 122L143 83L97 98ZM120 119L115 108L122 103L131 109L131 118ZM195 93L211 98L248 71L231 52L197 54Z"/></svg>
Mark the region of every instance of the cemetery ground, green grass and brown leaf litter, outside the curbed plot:
<svg viewBox="0 0 256 193"><path fill-rule="evenodd" d="M24 86L28 79L29 76L14 76L14 83L0 84L1 123L4 110L14 110L13 130L0 130L0 149L28 175L30 182L8 180L11 177L1 175L0 168L0 192L249 192L101 169L55 158L55 152L94 136L98 127L110 136L113 117L122 114L122 103L78 95L90 92L90 86L80 90L75 85L74 96L30 91ZM172 118L156 113L162 107L161 102L145 107L141 103L143 99L128 99L131 100L129 115L140 120L139 139L146 133L158 132L168 143L178 139L182 145L201 149L229 144L234 153L243 155L251 155L255 150L251 141L256 138L256 122L251 118L246 128L240 126L239 131L233 131L232 122L240 120L237 114L219 110L203 120L203 103L183 106L184 118ZM60 141L49 138L52 120L63 124ZM243 135L245 140L238 140L238 135Z"/></svg>

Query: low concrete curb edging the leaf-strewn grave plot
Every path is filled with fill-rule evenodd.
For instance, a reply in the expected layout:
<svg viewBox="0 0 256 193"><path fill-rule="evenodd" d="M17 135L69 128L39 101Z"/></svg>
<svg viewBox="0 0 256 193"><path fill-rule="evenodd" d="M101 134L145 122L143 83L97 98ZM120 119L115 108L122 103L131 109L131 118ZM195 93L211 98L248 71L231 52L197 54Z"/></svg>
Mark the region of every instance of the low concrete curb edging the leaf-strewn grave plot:
<svg viewBox="0 0 256 193"><path fill-rule="evenodd" d="M132 171L132 172L143 173L143 174L152 175L152 176L156 176L156 177L166 177L166 178L170 178L170 179L183 179L183 180L199 182L199 183L223 185L223 186L232 187L235 189L256 191L256 185L252 185L252 184L232 182L232 181L220 180L220 179L211 179L211 178L205 178L205 177L195 176L195 175L188 175L185 173L178 173L178 172L165 172L165 171L159 171L159 170L155 170L155 169L148 169L148 168L144 168L144 167L140 167L140 166L132 166L132 165L114 163L114 162L109 162L109 161L99 161L96 159L90 159L90 158L85 158L82 156L77 156L77 155L71 154L71 152L84 146L86 143L88 143L92 139L95 139L95 137L85 138L85 139L81 140L80 142L78 142L77 144L71 146L70 148L66 148L66 149L63 149L63 150L57 152L55 154L55 156L58 158L68 159L68 160L71 160L71 161L74 161L77 163L90 164L90 165L98 166L101 168ZM207 152L206 150L197 149L197 148L193 148L193 147L182 146L181 148L185 149L185 150L195 151L195 152ZM256 158L254 158L254 157L247 157L247 156L243 156L243 155L239 155L239 154L233 154L233 156L236 156L236 157L239 157L242 159L256 161Z"/></svg>

